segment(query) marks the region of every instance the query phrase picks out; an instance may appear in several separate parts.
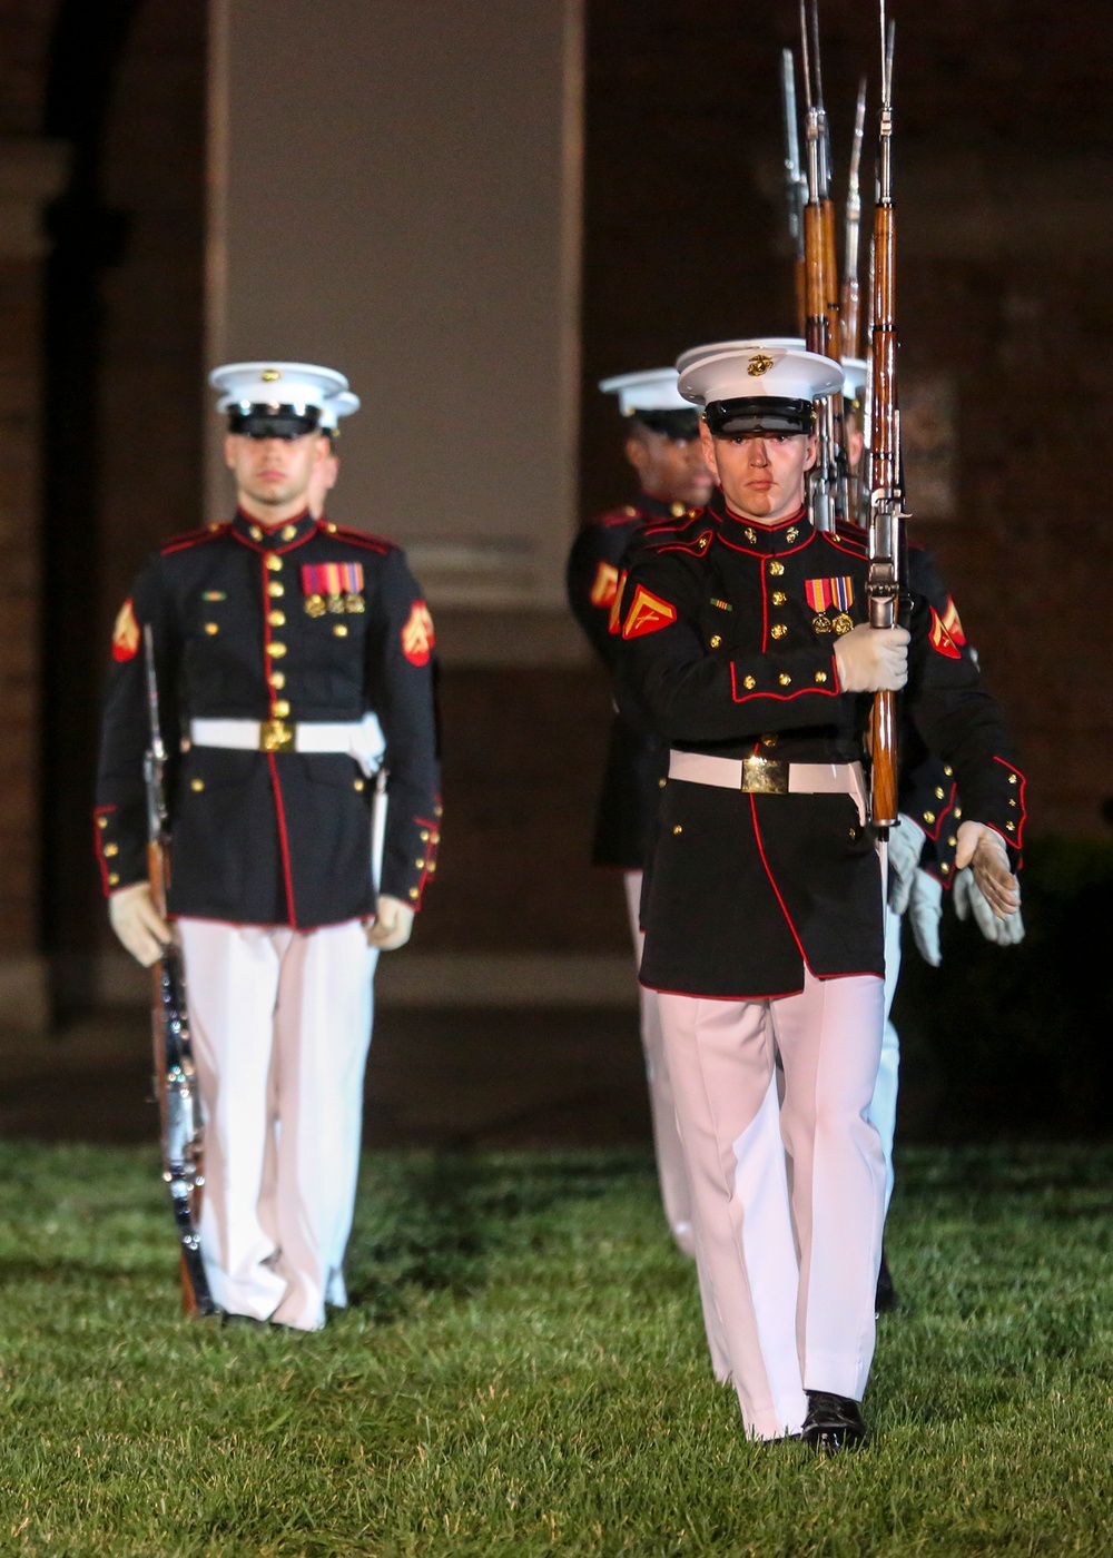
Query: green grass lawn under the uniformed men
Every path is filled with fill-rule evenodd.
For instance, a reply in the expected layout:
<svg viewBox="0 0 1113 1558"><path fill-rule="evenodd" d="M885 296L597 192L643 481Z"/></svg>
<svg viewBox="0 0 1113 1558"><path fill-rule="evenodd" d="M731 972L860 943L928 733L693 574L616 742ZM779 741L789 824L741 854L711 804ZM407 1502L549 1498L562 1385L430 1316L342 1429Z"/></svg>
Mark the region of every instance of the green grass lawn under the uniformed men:
<svg viewBox="0 0 1113 1558"><path fill-rule="evenodd" d="M1113 1553L1113 1150L904 1156L829 1463L744 1441L644 1156L369 1158L309 1337L179 1318L150 1151L0 1186L0 1553Z"/></svg>

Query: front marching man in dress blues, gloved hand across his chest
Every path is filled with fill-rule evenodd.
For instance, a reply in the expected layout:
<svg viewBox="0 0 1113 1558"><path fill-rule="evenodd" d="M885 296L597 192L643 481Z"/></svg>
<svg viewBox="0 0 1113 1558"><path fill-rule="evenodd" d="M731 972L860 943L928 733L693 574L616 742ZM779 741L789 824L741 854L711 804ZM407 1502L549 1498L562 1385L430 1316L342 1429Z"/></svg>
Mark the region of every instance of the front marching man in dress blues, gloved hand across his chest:
<svg viewBox="0 0 1113 1558"><path fill-rule="evenodd" d="M697 1260L747 1430L817 1443L834 1402L853 1443L885 1190L868 1120L885 966L870 695L907 687L907 717L954 770L959 857L1002 918L1024 781L931 561L912 567L910 629L871 629L865 547L807 520L812 402L839 369L748 343L678 368L706 405L709 460L742 495L647 528L620 580L620 707L672 749L642 982L659 992ZM778 1056L784 1151L770 1164L750 1147Z"/></svg>

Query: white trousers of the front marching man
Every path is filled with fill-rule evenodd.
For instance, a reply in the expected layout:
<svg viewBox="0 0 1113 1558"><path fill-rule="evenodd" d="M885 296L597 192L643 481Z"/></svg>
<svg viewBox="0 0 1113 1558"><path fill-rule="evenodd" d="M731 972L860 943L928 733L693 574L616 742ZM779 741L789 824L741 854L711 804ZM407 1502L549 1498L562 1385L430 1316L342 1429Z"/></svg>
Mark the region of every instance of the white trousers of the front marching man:
<svg viewBox="0 0 1113 1558"><path fill-rule="evenodd" d="M868 1120L884 988L776 1000L658 994L695 1257L747 1432L798 1432L806 1390L860 1399L874 1343L885 1165ZM784 1066L773 1145L775 1061Z"/></svg>

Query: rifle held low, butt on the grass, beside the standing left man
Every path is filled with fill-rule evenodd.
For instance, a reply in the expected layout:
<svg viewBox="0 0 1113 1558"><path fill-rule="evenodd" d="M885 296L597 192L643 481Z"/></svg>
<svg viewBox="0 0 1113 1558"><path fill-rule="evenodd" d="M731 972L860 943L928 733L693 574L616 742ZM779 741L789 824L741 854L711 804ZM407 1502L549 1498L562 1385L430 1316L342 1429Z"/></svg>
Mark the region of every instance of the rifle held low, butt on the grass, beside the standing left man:
<svg viewBox="0 0 1113 1558"><path fill-rule="evenodd" d="M151 745L143 753L147 785L147 874L151 897L161 916L167 913L170 885L170 829L164 774L167 749L159 724L159 682L154 670L154 636L143 625L147 657L147 701L151 718ZM201 1217L203 1140L201 1109L193 1072L193 1045L186 1010L186 974L181 950L170 944L151 969L151 1038L154 1041L154 1095L159 1100L162 1139L162 1178L170 1189L175 1226L181 1243L182 1310L187 1315L215 1315L209 1279L201 1260L196 1231Z"/></svg>

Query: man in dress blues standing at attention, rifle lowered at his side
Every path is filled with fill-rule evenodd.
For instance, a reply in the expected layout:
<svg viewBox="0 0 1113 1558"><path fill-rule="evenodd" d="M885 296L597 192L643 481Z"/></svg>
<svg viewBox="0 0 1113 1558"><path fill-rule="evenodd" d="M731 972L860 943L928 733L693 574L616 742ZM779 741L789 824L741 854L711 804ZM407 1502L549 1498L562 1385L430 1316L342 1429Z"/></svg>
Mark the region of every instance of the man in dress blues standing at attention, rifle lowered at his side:
<svg viewBox="0 0 1113 1558"><path fill-rule="evenodd" d="M313 1329L344 1302L374 963L436 868L433 628L396 545L307 508L343 375L248 363L212 383L240 508L168 541L120 609L97 849L117 933L150 963L170 933L145 885L150 625L206 1119L201 1250L221 1309Z"/></svg>

